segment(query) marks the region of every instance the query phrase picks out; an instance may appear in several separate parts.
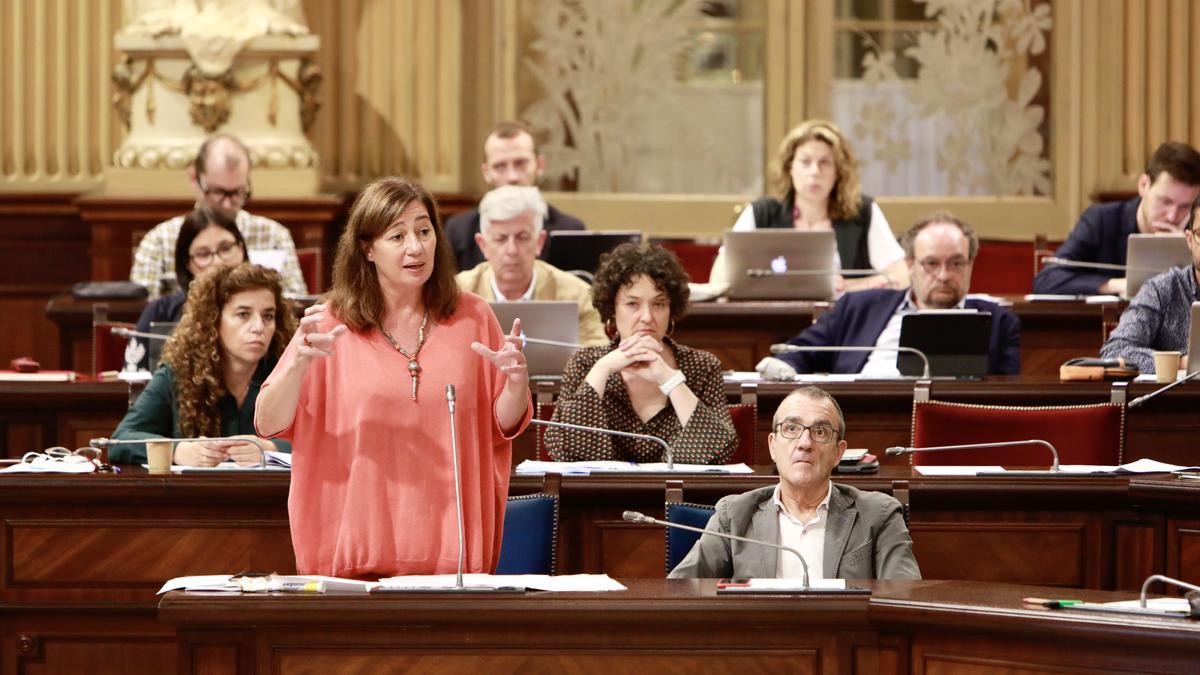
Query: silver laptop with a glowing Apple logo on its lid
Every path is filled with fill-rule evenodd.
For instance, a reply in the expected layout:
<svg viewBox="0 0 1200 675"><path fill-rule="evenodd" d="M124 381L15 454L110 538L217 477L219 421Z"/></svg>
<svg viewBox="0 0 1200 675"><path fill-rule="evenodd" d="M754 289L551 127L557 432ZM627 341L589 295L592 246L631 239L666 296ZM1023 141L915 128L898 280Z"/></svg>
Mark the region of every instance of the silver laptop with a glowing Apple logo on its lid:
<svg viewBox="0 0 1200 675"><path fill-rule="evenodd" d="M755 229L725 233L733 300L828 300L838 246L833 231Z"/></svg>

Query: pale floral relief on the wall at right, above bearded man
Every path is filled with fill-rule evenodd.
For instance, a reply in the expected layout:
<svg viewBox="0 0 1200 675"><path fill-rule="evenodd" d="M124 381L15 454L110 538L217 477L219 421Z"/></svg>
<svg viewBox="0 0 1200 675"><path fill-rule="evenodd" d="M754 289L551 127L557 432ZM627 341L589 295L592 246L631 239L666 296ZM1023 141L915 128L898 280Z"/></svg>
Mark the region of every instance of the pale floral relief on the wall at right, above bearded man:
<svg viewBox="0 0 1200 675"><path fill-rule="evenodd" d="M868 49L868 88L902 92L866 98L851 130L877 161L895 172L913 155L911 127L940 120L936 166L949 195L1048 195L1050 160L1036 103L1043 76L1030 65L1046 49L1050 6L1033 0L916 0L931 30L917 31L904 55L918 74L902 80L895 53L859 31ZM918 119L912 119L916 117Z"/></svg>

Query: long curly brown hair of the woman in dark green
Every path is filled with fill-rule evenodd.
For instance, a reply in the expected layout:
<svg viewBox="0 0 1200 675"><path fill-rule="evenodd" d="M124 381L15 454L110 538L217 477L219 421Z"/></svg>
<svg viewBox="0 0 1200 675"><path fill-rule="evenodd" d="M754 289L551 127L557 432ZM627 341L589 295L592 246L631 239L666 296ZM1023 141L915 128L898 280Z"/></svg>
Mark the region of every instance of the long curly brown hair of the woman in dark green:
<svg viewBox="0 0 1200 675"><path fill-rule="evenodd" d="M224 382L221 311L229 298L258 288L275 295L275 335L266 353L278 358L296 330L295 312L283 299L280 273L250 263L216 265L200 273L188 287L184 317L162 352L163 363L175 372L179 431L184 436L221 436L217 401L229 393Z"/></svg>

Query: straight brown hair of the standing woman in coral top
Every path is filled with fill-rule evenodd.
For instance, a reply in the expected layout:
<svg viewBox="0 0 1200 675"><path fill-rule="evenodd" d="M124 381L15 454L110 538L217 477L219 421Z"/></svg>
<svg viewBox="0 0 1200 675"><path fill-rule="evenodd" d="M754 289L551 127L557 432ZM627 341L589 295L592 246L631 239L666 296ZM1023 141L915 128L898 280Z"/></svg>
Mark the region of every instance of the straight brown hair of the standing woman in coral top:
<svg viewBox="0 0 1200 675"><path fill-rule="evenodd" d="M433 274L421 291L425 307L434 319L440 321L458 306L454 251L442 229L437 202L418 183L401 177L383 178L364 187L354 199L350 219L337 239L337 252L334 253L334 288L326 299L350 330L362 333L383 322L383 291L366 249L400 219L414 199L419 199L428 211L437 240Z"/></svg>

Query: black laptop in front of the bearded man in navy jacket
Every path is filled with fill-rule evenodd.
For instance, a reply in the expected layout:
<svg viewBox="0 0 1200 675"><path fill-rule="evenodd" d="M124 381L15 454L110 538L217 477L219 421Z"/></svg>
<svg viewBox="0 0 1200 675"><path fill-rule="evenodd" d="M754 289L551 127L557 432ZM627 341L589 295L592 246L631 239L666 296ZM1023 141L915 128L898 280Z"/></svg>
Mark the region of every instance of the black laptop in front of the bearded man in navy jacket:
<svg viewBox="0 0 1200 675"><path fill-rule="evenodd" d="M929 358L934 377L983 377L988 375L988 342L991 312L934 310L905 315L900 321L900 346L920 350ZM920 377L920 357L901 352L900 375Z"/></svg>

